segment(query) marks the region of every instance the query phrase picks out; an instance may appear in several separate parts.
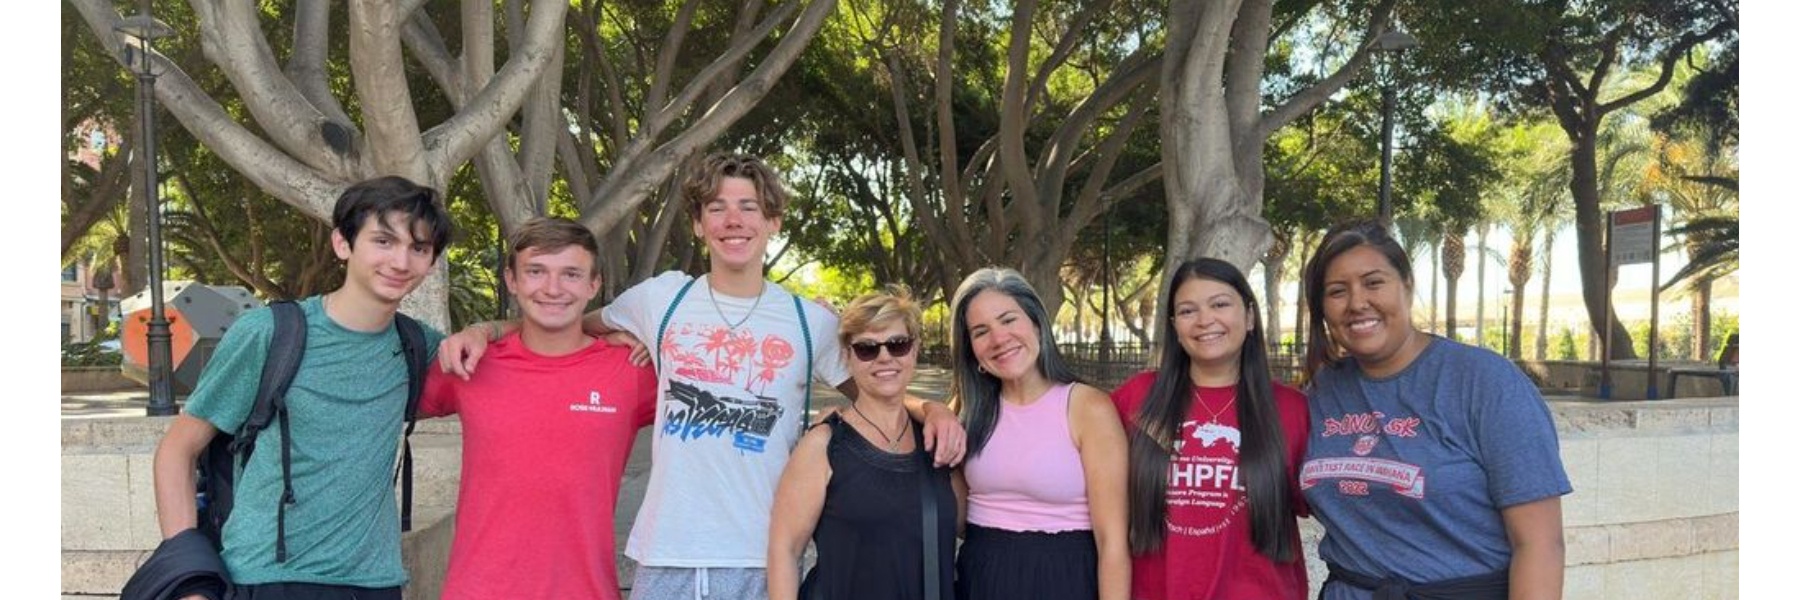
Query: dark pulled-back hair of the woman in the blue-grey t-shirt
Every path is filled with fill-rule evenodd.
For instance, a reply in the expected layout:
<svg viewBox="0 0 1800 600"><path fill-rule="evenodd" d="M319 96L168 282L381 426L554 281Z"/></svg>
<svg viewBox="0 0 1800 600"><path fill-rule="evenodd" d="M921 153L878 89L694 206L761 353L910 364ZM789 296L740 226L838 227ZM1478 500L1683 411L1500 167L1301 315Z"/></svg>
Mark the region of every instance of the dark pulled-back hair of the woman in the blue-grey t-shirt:
<svg viewBox="0 0 1800 600"><path fill-rule="evenodd" d="M1363 220L1339 223L1327 231L1325 241L1307 259L1303 276L1303 285L1307 286L1307 369L1301 377L1303 382L1312 382L1321 368L1337 366L1343 359L1325 326L1325 270L1332 267L1337 256L1364 245L1381 252L1381 258L1388 259L1388 267L1393 267L1393 272L1400 274L1406 288L1413 290L1413 261L1406 258L1406 249L1393 240L1388 227L1382 227L1379 222Z"/></svg>

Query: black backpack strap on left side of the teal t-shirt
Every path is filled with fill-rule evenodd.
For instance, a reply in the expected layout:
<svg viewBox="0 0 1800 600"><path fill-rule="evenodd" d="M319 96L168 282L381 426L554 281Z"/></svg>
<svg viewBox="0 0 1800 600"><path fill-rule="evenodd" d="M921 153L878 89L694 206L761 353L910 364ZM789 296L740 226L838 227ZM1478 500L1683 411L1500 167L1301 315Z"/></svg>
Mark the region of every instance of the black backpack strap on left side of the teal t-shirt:
<svg viewBox="0 0 1800 600"><path fill-rule="evenodd" d="M272 418L281 418L281 499L275 505L275 562L288 562L288 505L293 505L293 436L288 427L288 386L301 371L306 357L306 312L293 301L268 305L275 328L268 337L268 357L263 359L263 380L256 391L250 416L232 440L238 465L248 465L257 434ZM221 524L223 528L223 524Z"/></svg>

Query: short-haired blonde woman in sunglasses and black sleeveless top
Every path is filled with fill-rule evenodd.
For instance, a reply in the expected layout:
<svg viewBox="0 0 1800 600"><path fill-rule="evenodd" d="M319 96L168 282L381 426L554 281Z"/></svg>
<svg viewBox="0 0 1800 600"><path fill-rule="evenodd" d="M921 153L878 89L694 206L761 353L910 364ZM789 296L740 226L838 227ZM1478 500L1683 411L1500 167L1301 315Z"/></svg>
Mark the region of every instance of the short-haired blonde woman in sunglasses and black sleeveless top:
<svg viewBox="0 0 1800 600"><path fill-rule="evenodd" d="M959 494L905 409L918 335L920 308L904 290L844 308L837 341L857 396L814 425L781 472L769 598L952 598ZM808 541L819 560L801 578Z"/></svg>

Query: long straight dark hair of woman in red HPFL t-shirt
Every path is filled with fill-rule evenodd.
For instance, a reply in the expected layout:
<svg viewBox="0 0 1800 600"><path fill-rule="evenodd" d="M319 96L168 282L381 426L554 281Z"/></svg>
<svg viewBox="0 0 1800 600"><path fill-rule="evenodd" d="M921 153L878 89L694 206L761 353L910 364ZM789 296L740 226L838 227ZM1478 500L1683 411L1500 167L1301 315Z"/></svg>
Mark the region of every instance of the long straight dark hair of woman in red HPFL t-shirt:
<svg viewBox="0 0 1800 600"><path fill-rule="evenodd" d="M1168 285L1168 297L1163 299L1163 312L1170 314L1163 321L1163 364L1130 432L1130 551L1163 548L1168 535L1168 459L1193 405L1193 378L1188 375L1192 359L1181 348L1174 306L1175 292L1193 279L1229 285L1244 301L1249 332L1238 351L1237 418L1242 438L1238 474L1249 499L1249 539L1264 557L1294 560L1300 528L1294 524L1292 477L1287 472L1287 436L1274 405L1274 384L1269 382L1269 351L1264 346L1256 295L1237 267L1215 258L1181 263Z"/></svg>

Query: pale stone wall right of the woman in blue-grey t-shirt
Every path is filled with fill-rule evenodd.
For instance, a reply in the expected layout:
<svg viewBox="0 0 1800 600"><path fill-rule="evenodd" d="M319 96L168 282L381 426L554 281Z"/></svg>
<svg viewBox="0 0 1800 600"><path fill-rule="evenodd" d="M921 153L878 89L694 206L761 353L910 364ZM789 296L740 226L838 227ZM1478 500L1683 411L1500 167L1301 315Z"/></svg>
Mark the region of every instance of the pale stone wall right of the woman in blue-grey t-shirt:
<svg viewBox="0 0 1800 600"><path fill-rule="evenodd" d="M1737 598L1737 398L1559 404L1568 598Z"/></svg>

